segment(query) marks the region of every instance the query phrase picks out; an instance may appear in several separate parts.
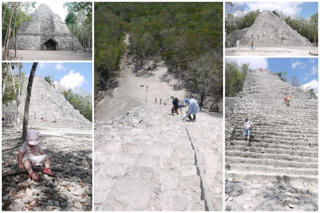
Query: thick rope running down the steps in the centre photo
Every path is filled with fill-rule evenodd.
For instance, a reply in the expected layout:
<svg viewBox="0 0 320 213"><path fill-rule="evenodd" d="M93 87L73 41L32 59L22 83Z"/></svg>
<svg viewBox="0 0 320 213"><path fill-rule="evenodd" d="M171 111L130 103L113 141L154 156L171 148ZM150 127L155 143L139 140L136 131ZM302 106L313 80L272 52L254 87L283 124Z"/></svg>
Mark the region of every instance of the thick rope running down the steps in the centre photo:
<svg viewBox="0 0 320 213"><path fill-rule="evenodd" d="M181 115L182 115L182 117L184 117L183 113L181 113ZM186 120L183 119L183 121L184 121L184 124L186 125L186 129L187 129L189 138L191 140L191 144L192 144L193 148L195 149L196 158L197 158L197 164L198 164L198 168L199 168L199 171L200 171L200 177L201 177L201 180L202 180L202 186L203 186L203 190L204 190L204 196L205 196L206 201L207 201L207 207L208 207L209 211L214 211L212 199L210 198L210 190L207 187L208 186L208 182L206 181L206 178L204 176L204 174L205 174L205 170L204 170L204 167L203 167L204 162L199 162L200 157L199 157L198 147L196 146L196 143L195 143L194 139L191 136L191 132L188 129Z"/></svg>

